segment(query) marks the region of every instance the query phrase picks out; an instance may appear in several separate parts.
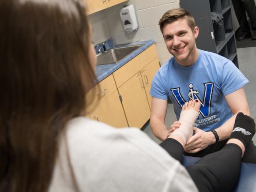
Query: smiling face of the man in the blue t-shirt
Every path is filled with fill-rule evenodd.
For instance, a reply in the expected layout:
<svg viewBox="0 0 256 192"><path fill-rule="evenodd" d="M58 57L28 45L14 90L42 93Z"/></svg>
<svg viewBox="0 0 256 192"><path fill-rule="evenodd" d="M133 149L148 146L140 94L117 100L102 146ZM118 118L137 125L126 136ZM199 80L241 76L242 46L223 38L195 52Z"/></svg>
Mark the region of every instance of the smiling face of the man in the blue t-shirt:
<svg viewBox="0 0 256 192"><path fill-rule="evenodd" d="M178 19L163 27L166 47L179 64L189 66L192 64L190 62L194 61L198 32L198 27L195 27L194 31L191 30L186 19Z"/></svg>

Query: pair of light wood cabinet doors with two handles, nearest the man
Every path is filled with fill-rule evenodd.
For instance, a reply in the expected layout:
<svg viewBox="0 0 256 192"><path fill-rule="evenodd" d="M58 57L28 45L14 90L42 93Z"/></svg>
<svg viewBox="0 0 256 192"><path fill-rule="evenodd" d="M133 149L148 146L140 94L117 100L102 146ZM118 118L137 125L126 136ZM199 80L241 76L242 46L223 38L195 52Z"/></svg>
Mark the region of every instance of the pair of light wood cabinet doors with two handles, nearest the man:
<svg viewBox="0 0 256 192"><path fill-rule="evenodd" d="M141 128L150 118L151 95L149 92L158 68L158 58L155 58L118 88L130 127Z"/></svg>

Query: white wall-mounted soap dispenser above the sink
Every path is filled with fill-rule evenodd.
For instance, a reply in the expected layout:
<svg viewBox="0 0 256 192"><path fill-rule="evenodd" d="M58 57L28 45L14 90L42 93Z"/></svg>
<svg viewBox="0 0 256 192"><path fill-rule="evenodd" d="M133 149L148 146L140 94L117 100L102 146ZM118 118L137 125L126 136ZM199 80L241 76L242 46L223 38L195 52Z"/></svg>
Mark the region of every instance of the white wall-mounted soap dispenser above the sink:
<svg viewBox="0 0 256 192"><path fill-rule="evenodd" d="M138 29L136 13L133 4L124 7L120 11L120 17L124 26L124 31L132 33L133 30Z"/></svg>

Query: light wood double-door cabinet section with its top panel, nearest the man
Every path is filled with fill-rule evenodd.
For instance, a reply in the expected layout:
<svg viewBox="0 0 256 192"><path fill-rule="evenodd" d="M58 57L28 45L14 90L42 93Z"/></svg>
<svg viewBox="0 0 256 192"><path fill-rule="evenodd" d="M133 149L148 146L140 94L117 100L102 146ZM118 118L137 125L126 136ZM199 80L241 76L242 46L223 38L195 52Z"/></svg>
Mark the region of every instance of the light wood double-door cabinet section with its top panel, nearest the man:
<svg viewBox="0 0 256 192"><path fill-rule="evenodd" d="M113 73L130 127L142 128L150 118L149 91L159 67L155 45L152 45Z"/></svg>

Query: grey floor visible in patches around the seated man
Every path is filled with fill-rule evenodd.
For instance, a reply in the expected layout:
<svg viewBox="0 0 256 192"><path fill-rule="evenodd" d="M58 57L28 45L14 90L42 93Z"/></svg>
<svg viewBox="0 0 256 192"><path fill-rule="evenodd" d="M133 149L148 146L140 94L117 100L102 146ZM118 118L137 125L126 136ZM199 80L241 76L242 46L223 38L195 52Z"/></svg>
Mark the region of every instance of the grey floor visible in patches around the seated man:
<svg viewBox="0 0 256 192"><path fill-rule="evenodd" d="M256 121L256 47L239 48L237 49L237 56L239 68L249 80L249 83L245 85L245 93L251 110L251 117ZM173 104L168 104L166 125L171 125L175 120ZM144 125L142 130L156 143L160 143L160 140L151 132L149 121ZM252 140L256 144L256 136Z"/></svg>

